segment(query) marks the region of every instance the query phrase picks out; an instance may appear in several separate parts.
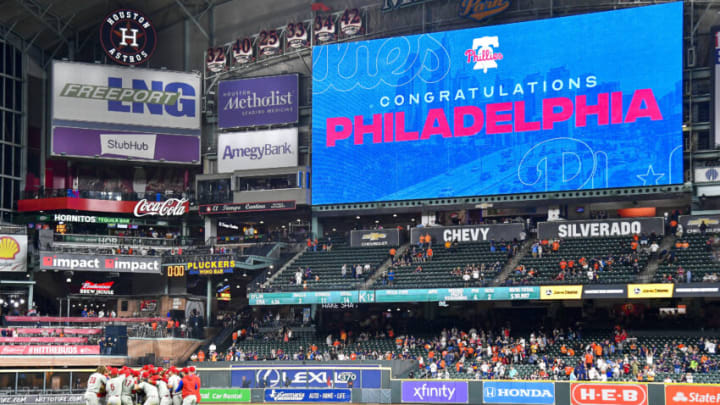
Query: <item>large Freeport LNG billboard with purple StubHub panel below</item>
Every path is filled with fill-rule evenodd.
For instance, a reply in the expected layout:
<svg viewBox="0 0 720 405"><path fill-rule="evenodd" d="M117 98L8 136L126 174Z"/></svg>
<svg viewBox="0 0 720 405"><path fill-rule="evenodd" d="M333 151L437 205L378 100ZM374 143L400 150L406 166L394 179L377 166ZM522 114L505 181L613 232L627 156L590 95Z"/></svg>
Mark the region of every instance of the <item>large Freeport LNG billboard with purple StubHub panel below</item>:
<svg viewBox="0 0 720 405"><path fill-rule="evenodd" d="M200 163L200 75L55 61L56 156Z"/></svg>

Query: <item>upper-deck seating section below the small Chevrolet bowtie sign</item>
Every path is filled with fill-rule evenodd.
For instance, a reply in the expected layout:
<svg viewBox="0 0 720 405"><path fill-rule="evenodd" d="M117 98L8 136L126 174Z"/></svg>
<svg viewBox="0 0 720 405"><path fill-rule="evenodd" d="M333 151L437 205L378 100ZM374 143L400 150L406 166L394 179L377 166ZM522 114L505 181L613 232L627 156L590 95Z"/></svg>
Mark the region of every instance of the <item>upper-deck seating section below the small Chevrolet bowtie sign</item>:
<svg viewBox="0 0 720 405"><path fill-rule="evenodd" d="M304 252L295 262L286 268L269 286L275 291L308 290L352 290L359 288L370 277L372 272L389 258L387 247L351 248L335 244L330 250L322 250L324 241L319 241L317 251ZM341 268L347 265L347 274L342 276ZM362 277L352 277L352 266L369 264L370 272L363 272ZM295 273L298 268L310 269L310 277L303 277L296 283Z"/></svg>

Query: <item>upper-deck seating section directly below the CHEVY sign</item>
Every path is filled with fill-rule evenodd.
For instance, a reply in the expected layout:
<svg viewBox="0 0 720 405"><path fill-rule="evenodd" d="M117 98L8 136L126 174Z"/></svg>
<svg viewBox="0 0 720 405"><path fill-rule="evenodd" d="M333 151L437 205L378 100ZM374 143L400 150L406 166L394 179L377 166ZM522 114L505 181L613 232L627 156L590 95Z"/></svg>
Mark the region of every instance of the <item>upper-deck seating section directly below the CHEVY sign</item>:
<svg viewBox="0 0 720 405"><path fill-rule="evenodd" d="M412 246L409 248L412 251ZM433 246L433 257L425 262L413 262L393 268L394 280L379 277L375 288L436 288L436 287L482 287L487 285L502 270L507 262L507 252L490 251L490 243L461 243L446 249ZM418 266L422 271L418 272ZM463 280L463 272L472 273L470 267L482 269L481 277ZM454 269L459 268L453 273Z"/></svg>

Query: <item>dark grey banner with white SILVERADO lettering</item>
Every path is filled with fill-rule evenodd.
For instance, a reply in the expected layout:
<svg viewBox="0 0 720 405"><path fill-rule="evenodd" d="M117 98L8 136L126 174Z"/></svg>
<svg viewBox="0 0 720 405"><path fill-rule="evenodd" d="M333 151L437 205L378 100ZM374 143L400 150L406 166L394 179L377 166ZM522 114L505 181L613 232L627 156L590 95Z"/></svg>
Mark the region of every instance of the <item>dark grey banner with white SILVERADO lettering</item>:
<svg viewBox="0 0 720 405"><path fill-rule="evenodd" d="M607 238L635 234L665 234L663 218L618 218L586 221L540 222L540 239Z"/></svg>

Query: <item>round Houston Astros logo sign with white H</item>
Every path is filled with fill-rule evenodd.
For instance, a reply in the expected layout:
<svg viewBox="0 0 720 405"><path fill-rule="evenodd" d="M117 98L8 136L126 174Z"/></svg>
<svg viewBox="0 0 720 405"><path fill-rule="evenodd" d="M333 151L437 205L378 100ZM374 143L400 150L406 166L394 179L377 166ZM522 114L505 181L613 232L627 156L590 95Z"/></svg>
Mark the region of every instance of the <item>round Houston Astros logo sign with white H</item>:
<svg viewBox="0 0 720 405"><path fill-rule="evenodd" d="M152 22L136 10L115 10L100 25L100 43L112 60L123 65L147 62L155 51Z"/></svg>

